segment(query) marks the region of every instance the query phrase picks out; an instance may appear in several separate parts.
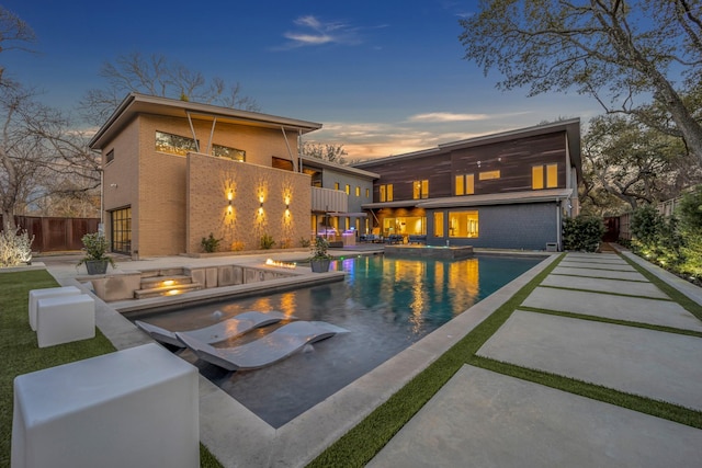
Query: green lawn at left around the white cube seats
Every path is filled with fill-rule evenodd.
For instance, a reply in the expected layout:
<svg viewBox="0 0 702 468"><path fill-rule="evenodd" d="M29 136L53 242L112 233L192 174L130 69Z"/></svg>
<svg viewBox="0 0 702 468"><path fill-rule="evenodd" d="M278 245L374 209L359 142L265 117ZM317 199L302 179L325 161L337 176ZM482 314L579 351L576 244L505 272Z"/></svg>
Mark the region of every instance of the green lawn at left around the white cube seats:
<svg viewBox="0 0 702 468"><path fill-rule="evenodd" d="M10 466L14 378L115 351L100 329L90 340L38 347L36 333L29 322L30 290L56 286L59 285L46 270L0 273L0 467ZM200 454L201 466L222 468L202 444Z"/></svg>

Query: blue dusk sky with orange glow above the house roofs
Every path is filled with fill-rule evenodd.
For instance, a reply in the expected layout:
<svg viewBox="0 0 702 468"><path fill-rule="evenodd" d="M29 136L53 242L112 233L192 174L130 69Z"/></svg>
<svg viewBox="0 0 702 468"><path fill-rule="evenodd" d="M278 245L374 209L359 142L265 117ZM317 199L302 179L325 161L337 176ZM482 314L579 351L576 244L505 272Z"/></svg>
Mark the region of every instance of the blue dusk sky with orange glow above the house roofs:
<svg viewBox="0 0 702 468"><path fill-rule="evenodd" d="M38 54L0 57L43 103L70 110L105 87L105 61L160 54L239 82L263 113L324 124L305 139L342 144L351 159L602 113L575 92L498 91L496 71L463 59L458 20L477 3L10 0L2 5L34 30Z"/></svg>

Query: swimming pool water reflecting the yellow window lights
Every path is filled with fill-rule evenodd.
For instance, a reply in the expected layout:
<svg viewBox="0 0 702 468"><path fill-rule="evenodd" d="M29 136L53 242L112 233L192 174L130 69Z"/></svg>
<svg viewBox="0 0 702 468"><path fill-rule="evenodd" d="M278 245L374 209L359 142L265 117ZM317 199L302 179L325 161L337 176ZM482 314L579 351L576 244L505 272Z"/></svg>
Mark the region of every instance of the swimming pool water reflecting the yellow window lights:
<svg viewBox="0 0 702 468"><path fill-rule="evenodd" d="M297 320L322 320L349 330L257 370L226 372L180 355L273 427L280 427L407 349L543 259L477 256L460 261L358 256L332 262L343 282L208 304L144 318L180 331L247 310L280 310ZM217 343L236 346L286 323Z"/></svg>

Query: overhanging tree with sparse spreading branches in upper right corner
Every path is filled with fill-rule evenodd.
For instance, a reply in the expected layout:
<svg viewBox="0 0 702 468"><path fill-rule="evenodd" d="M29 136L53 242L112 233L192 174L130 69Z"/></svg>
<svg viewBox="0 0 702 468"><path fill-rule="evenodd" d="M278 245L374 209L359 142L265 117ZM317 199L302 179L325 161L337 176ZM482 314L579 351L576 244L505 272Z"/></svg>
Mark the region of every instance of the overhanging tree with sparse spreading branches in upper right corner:
<svg viewBox="0 0 702 468"><path fill-rule="evenodd" d="M575 88L682 137L702 162L701 13L698 0L483 0L460 39L503 75L499 89Z"/></svg>

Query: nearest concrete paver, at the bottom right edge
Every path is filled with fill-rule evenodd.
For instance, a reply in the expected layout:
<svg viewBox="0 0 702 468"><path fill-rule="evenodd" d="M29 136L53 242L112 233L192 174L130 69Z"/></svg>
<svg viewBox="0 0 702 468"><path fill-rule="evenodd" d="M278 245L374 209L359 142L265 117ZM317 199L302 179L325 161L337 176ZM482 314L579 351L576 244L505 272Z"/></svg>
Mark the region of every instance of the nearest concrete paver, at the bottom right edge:
<svg viewBox="0 0 702 468"><path fill-rule="evenodd" d="M369 467L691 467L702 431L464 366Z"/></svg>

